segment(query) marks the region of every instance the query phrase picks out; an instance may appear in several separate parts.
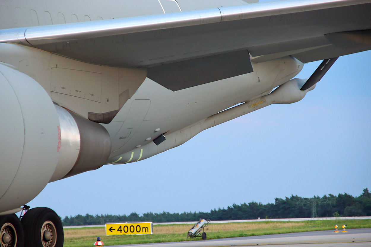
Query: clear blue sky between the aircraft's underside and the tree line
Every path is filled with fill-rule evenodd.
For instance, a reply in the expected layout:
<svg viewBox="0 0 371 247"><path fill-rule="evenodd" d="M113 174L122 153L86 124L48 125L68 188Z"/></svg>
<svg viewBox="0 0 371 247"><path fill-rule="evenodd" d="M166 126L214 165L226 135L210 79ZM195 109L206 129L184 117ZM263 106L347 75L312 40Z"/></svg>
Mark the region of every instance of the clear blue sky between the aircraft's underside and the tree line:
<svg viewBox="0 0 371 247"><path fill-rule="evenodd" d="M370 51L340 57L300 102L252 112L143 161L52 182L28 205L65 217L208 212L291 194L358 196L371 189L370 67Z"/></svg>

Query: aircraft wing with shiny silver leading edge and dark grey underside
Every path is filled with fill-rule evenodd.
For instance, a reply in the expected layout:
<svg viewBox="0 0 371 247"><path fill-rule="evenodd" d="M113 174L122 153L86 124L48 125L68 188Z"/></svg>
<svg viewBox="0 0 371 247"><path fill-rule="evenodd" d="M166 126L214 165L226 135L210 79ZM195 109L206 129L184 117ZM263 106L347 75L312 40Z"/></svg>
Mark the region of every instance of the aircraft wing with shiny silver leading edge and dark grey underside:
<svg viewBox="0 0 371 247"><path fill-rule="evenodd" d="M252 62L369 50L371 0L278 1L6 29L0 42L99 65L147 67L149 78L179 90L252 72Z"/></svg>

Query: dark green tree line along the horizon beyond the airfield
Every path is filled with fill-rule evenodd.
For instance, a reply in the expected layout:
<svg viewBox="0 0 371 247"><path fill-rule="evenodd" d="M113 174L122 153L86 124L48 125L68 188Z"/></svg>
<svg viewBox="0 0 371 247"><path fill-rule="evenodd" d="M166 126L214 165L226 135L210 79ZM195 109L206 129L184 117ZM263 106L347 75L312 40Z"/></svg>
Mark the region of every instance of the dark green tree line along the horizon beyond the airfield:
<svg viewBox="0 0 371 247"><path fill-rule="evenodd" d="M233 204L227 208L218 208L210 212L184 212L184 213L144 213L135 212L129 215L75 215L66 216L62 224L67 225L103 225L106 223L121 222L182 222L198 221L200 218L210 220L249 220L257 218L310 218L310 217L341 217L341 216L371 216L371 193L367 188L358 197L347 193L336 195L314 196L302 198L298 195L275 198L274 203L261 202Z"/></svg>

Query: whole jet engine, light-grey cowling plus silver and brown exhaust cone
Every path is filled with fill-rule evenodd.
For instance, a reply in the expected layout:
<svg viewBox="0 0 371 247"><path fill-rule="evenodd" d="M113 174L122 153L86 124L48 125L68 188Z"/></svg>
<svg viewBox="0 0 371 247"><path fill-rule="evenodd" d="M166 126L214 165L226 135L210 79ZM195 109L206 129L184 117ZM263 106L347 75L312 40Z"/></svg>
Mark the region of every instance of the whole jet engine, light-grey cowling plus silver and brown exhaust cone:
<svg viewBox="0 0 371 247"><path fill-rule="evenodd" d="M1 63L0 113L0 213L109 157L111 139L102 125L54 105L34 79Z"/></svg>

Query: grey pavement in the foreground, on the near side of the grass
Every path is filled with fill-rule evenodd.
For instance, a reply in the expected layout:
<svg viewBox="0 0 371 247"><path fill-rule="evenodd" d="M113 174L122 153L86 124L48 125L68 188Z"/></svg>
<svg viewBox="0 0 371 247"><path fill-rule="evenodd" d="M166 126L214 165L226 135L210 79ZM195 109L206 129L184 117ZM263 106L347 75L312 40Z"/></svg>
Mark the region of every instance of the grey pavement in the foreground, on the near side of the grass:
<svg viewBox="0 0 371 247"><path fill-rule="evenodd" d="M131 244L129 247L224 247L224 246L269 246L282 247L371 247L371 228L347 229L347 233L334 231L311 231L305 233L286 233L240 238L223 238L203 241L184 241L173 243ZM119 245L115 247L122 247ZM128 247L128 246L125 246Z"/></svg>

